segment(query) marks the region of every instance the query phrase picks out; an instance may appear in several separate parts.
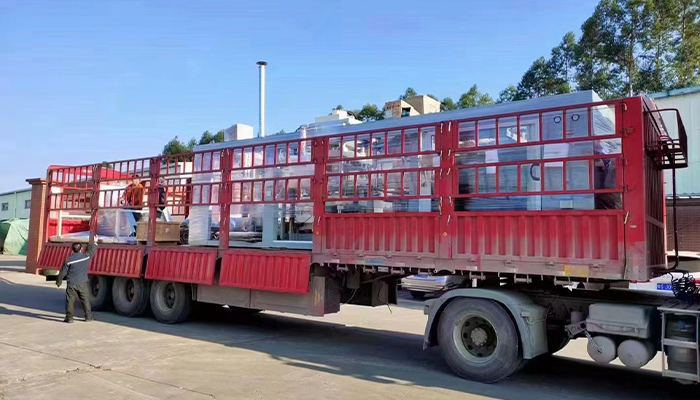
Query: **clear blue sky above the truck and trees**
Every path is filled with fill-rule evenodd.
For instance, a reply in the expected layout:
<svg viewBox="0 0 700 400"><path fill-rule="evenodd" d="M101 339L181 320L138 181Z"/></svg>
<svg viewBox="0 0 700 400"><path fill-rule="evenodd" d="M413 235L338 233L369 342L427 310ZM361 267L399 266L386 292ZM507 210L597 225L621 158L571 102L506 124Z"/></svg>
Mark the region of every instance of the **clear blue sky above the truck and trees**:
<svg viewBox="0 0 700 400"><path fill-rule="evenodd" d="M49 164L159 153L233 123L267 131L408 86L516 84L597 0L0 0L0 192Z"/></svg>

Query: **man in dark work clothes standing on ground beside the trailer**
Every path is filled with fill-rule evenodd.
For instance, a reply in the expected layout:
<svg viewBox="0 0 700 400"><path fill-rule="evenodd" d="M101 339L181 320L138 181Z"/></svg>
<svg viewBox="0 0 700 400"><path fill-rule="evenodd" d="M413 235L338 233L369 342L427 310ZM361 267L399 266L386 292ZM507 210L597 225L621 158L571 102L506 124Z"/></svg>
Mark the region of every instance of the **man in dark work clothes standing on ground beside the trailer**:
<svg viewBox="0 0 700 400"><path fill-rule="evenodd" d="M75 314L74 304L75 298L80 300L85 310L85 322L93 320L92 311L90 310L90 299L88 297L88 266L90 259L95 255L97 250L97 237L95 243L90 244L85 253L81 253L83 245L73 243L71 247L73 254L66 258L66 261L61 267L61 272L56 279L56 286L61 287L61 283L65 279L68 282L66 287L66 319L63 322L72 323L73 314Z"/></svg>

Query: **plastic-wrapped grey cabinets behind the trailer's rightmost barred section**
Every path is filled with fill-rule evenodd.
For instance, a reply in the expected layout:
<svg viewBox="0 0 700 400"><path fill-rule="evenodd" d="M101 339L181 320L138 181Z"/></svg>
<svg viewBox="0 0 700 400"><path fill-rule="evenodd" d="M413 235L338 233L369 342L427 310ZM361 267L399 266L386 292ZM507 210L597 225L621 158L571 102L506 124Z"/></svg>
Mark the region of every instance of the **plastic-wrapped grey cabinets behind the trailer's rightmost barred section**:
<svg viewBox="0 0 700 400"><path fill-rule="evenodd" d="M575 190L615 189L618 171L617 160L608 156L622 152L619 138L603 136L615 134L615 110L609 106L592 108L593 126L591 140L570 143L544 143L527 145L527 142L585 138L589 134L586 108L553 111L520 117L520 142L522 146L484 148L495 144L495 120L486 119L459 125L461 148L474 148L456 155L458 166L458 193L478 193L486 197L461 197L456 199L457 211L523 211L523 210L594 210L620 209L619 193L596 194L537 194ZM563 119L566 118L566 135ZM541 129L540 129L541 124ZM479 146L475 146L478 125ZM514 117L498 119L501 145L517 142L518 127ZM600 137L600 138L596 138ZM595 157L587 160L561 161L570 157ZM547 161L554 160L558 161ZM497 163L508 163L498 165ZM515 164L517 163L517 164ZM591 166L591 163L593 164ZM518 165L519 164L519 165ZM518 167L520 176L518 176ZM589 176L593 173L593 177ZM498 175L498 176L497 176ZM498 182L498 183L497 183ZM590 183L593 182L593 187ZM518 187L518 183L520 187ZM496 185L498 184L498 187ZM477 187L478 186L478 187ZM520 192L517 195L515 192ZM514 193L509 195L509 193ZM524 195L526 194L526 195Z"/></svg>

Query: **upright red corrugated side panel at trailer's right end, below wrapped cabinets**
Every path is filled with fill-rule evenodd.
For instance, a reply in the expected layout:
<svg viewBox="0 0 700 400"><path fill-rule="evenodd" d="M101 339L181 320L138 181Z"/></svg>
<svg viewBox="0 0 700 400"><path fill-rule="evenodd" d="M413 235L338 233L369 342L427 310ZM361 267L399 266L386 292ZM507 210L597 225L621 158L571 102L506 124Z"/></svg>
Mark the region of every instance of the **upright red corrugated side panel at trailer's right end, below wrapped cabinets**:
<svg viewBox="0 0 700 400"><path fill-rule="evenodd" d="M623 230L622 211L458 213L454 247L456 258L479 260L487 271L500 266L525 272L523 264L530 262L543 268L541 273L551 274L547 263L554 263L622 276Z"/></svg>

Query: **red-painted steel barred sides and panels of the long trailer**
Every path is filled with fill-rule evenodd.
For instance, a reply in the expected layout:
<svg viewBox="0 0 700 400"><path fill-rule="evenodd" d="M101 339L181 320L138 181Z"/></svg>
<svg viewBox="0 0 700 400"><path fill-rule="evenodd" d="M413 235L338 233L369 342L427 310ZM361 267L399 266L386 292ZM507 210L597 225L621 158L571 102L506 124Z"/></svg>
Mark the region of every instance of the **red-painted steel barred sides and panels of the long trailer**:
<svg viewBox="0 0 700 400"><path fill-rule="evenodd" d="M649 103L651 104L651 103ZM648 279L650 269L663 266L658 253L663 244L658 243L658 229L663 227L653 199L663 197L662 175L652 166L648 156L651 135L644 129L644 112L653 105L645 105L643 98L634 97L557 107L530 110L519 113L493 115L466 120L445 120L439 123L404 126L392 129L374 129L349 134L336 134L308 139L282 140L272 143L232 146L230 148L207 150L175 156L161 156L152 159L133 159L79 167L51 167L48 172L50 188L58 187L61 193L49 189L48 212L52 210L82 210L92 213L92 234L94 236L95 215L98 208L111 208L113 205L97 203L100 183L125 181L133 174L143 174L150 180L146 186L148 200L149 235L145 277L148 279L174 280L199 284L214 284L217 257L222 257L222 285L248 287L262 290L278 290L302 293L307 290L301 276L308 275L302 264L360 264L370 268L377 266L391 268L398 274L406 273L401 268L477 270L505 273L528 273L560 275L581 278L605 279ZM602 107L614 107L614 131L598 135L593 111ZM577 121L585 113L585 130L570 135L570 123ZM576 120L573 116L577 115ZM544 122L559 116L561 135L552 140L544 137ZM449 118L449 114L446 114ZM537 125L537 137L522 137L523 121L532 120ZM515 124L515 125L513 125ZM460 131L464 126L468 130ZM575 129L575 126L573 125ZM514 129L513 129L514 128ZM492 130L493 129L493 130ZM505 129L505 130L504 130ZM510 130L509 130L510 129ZM583 128L582 128L583 129ZM504 130L502 133L501 131ZM460 135L465 133L465 141ZM513 143L504 143L502 135L512 135ZM534 133L534 132L532 132ZM645 139L645 135L647 139ZM660 135L655 133L655 135ZM432 136L434 146L425 140ZM506 137L504 136L504 137ZM651 135L653 136L653 135ZM481 139L480 139L481 138ZM488 140L493 138L492 142ZM372 140L381 145L375 146ZM473 151L523 148L524 146L545 146L592 142L604 139L617 139L622 143L621 154L585 154L561 156L546 159L521 161L486 161L480 164L458 165L456 157ZM511 138L511 140L513 140ZM471 142L470 142L471 141ZM467 147L460 147L465 145ZM351 151L351 154L347 152ZM259 156L259 157L258 157ZM415 162L416 157L429 160ZM433 164L430 157L437 158ZM400 159L400 161L395 161ZM594 182L596 160L615 160L617 175L614 187L598 188ZM259 160L261 162L259 162ZM396 162L389 170L346 171L344 165L352 163ZM588 162L588 188L569 186L566 179L566 166L570 162ZM559 162L563 166L561 189L545 187L545 163ZM189 168L188 163L196 164ZM345 163L345 164L344 164ZM336 168L331 172L329 165ZM541 188L530 192L523 190L521 170L527 165L539 165ZM235 179L234 174L242 171L270 167L313 166L313 172L281 178L255 180ZM398 166L397 166L398 165ZM501 168L515 166L517 183L515 191L503 192L500 189ZM493 192L479 192L478 168L493 168L495 189ZM475 190L459 193L459 171L474 169ZM340 171L340 172L337 172ZM432 182L426 182L422 172L432 172ZM211 174L215 177L210 183L183 181L182 174ZM416 181L406 179L416 174ZM384 188L381 196L372 193L374 175L384 174ZM388 175L400 176L398 192L388 191ZM240 175L238 175L240 176ZM368 192L358 191L358 177L366 176ZM176 194L173 204L160 204L155 182L165 178L165 190ZM338 195L331 197L329 182L338 182ZM352 181L352 196L344 196L344 184ZM264 189L272 182L272 198L258 195L258 188ZM297 191L290 197L290 187L308 183L310 194L303 197ZM410 193L416 184L416 193ZM433 188L422 194L423 184ZM363 183L364 185L364 183ZM284 195L278 193L278 186ZM348 186L349 188L349 186ZM497 196L549 196L549 195L599 195L621 193L622 208L619 210L530 210L530 211L458 211L457 199L491 198ZM166 196L167 197L167 196ZM88 199L90 201L88 201ZM328 202L394 202L427 200L430 210L420 212L385 213L330 213L326 211ZM175 202L177 201L177 204ZM166 203L170 200L166 200ZM304 256L297 252L277 253L275 251L229 250L228 218L234 204L298 203L313 204L313 250ZM89 207L88 207L89 204ZM425 205L425 203L422 203ZM435 204L436 208L432 205ZM219 253L217 249L206 247L153 247L155 235L156 209L158 206L187 208L193 205L219 206L221 212ZM381 205L384 207L384 205ZM47 224L45 224L47 226ZM659 236L661 237L661 236ZM41 259L47 264L55 264L61 245L47 245ZM106 254L106 253L105 253ZM302 253L303 254L303 253ZM262 257L262 266L253 266L253 255ZM133 256L130 253L129 256ZM306 257L306 258L305 258ZM308 258L308 260L307 260ZM290 261L290 260L293 260ZM289 263L288 267L277 266ZM256 270L255 268L259 268ZM99 268L99 272L109 268ZM110 270L111 271L111 270ZM135 267L129 269L134 273ZM96 270L96 272L98 272ZM281 274L268 276L257 272ZM289 279L282 279L285 274ZM279 278L279 279L278 279ZM308 279L305 281L308 284Z"/></svg>

